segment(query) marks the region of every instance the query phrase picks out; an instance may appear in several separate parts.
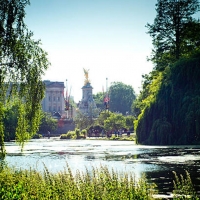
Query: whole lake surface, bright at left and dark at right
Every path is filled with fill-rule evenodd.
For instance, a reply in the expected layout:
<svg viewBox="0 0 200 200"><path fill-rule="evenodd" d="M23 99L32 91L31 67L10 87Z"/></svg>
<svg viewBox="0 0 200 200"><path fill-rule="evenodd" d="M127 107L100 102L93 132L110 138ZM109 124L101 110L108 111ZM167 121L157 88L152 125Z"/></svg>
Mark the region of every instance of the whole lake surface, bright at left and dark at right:
<svg viewBox="0 0 200 200"><path fill-rule="evenodd" d="M6 143L9 166L44 170L56 173L67 164L73 173L106 165L118 172L133 172L136 177L145 173L158 185L159 193L169 195L174 175L187 170L200 191L200 146L143 146L132 141L60 140L59 138L30 140L21 152L14 142Z"/></svg>

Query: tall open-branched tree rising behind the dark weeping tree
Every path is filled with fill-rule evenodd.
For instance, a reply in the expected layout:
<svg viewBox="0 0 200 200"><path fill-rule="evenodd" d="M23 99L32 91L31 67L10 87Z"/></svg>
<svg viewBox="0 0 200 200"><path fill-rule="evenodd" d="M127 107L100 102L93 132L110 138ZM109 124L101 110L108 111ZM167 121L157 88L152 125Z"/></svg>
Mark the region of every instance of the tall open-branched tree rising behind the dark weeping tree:
<svg viewBox="0 0 200 200"><path fill-rule="evenodd" d="M192 18L199 11L199 2L158 0L156 11L154 23L147 24L154 45L150 60L162 71L169 63L199 49L200 36L196 30L200 30L200 24Z"/></svg>

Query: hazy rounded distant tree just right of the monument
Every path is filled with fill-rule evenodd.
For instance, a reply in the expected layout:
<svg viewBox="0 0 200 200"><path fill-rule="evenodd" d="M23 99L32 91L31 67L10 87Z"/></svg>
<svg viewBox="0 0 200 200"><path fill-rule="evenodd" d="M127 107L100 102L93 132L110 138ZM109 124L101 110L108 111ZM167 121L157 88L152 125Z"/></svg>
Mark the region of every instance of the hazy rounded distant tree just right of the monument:
<svg viewBox="0 0 200 200"><path fill-rule="evenodd" d="M135 92L130 85L114 82L109 89L110 110L122 114L131 113L131 105L135 100Z"/></svg>

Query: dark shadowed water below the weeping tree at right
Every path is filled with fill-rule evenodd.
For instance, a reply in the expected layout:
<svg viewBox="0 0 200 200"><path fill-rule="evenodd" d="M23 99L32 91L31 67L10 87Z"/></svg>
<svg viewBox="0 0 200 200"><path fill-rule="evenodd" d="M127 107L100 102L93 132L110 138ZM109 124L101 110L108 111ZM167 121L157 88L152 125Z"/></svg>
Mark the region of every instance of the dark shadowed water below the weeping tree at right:
<svg viewBox="0 0 200 200"><path fill-rule="evenodd" d="M148 180L156 183L159 193L170 194L173 191L174 173L186 176L189 172L195 190L200 194L200 148L176 146L151 153L151 159L146 163L154 163L159 170L146 171ZM144 155L140 155L143 157Z"/></svg>

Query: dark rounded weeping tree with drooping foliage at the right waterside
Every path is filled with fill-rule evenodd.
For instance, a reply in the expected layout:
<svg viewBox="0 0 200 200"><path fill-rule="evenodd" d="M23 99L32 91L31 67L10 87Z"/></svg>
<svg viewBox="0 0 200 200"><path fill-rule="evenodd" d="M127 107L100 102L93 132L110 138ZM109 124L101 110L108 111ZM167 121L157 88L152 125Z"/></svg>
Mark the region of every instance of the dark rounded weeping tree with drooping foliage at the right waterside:
<svg viewBox="0 0 200 200"><path fill-rule="evenodd" d="M157 92L134 122L144 144L200 142L200 55L166 68ZM151 85L150 85L151 88Z"/></svg>

